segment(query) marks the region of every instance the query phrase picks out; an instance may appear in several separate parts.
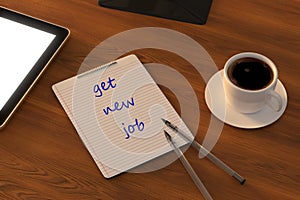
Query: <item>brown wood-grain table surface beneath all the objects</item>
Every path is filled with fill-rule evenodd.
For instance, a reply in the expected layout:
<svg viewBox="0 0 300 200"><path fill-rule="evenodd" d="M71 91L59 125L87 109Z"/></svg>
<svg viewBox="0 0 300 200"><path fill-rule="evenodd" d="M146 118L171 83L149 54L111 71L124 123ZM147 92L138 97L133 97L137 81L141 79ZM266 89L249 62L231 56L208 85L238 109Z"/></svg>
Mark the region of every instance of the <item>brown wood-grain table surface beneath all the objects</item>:
<svg viewBox="0 0 300 200"><path fill-rule="evenodd" d="M245 185L199 159L195 150L185 155L214 199L300 199L299 0L214 0L204 26L105 9L96 0L1 0L0 5L71 30L69 41L0 132L1 199L202 198L178 160L151 173L105 179L51 90L54 83L76 75L100 42L137 27L165 27L190 36L219 69L243 51L262 53L276 63L289 97L284 115L261 129L225 125L212 150L247 179ZM169 64L179 59L166 52L136 53L142 61ZM176 64L174 68L189 79L198 96L201 122L196 139L201 142L211 115L204 100L205 83L189 69ZM162 89L179 110L175 96Z"/></svg>

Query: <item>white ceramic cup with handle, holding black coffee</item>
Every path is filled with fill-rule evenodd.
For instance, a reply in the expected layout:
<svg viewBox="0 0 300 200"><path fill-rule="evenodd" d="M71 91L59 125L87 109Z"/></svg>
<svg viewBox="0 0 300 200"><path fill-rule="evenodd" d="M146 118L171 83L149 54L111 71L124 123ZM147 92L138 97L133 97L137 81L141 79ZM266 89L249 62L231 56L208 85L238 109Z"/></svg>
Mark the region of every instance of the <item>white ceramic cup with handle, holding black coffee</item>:
<svg viewBox="0 0 300 200"><path fill-rule="evenodd" d="M231 73L233 65L239 61L243 62L243 59L248 59L248 61L251 59L259 60L262 61L262 63L267 64L271 69L270 73L272 73L272 78L270 78L268 84L262 88L249 89L241 87L236 82L234 83L232 75L229 73ZM240 65L236 65L236 67L238 66ZM275 64L266 56L253 52L236 54L225 63L223 72L223 85L226 95L226 103L231 106L231 108L240 113L258 112L265 106L269 106L275 112L281 110L282 99L280 95L274 91L278 80L278 71Z"/></svg>

